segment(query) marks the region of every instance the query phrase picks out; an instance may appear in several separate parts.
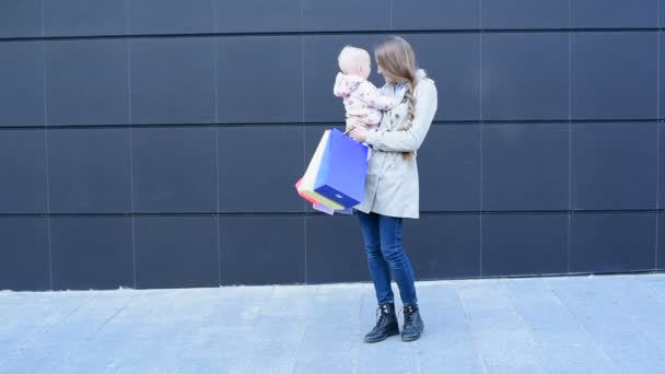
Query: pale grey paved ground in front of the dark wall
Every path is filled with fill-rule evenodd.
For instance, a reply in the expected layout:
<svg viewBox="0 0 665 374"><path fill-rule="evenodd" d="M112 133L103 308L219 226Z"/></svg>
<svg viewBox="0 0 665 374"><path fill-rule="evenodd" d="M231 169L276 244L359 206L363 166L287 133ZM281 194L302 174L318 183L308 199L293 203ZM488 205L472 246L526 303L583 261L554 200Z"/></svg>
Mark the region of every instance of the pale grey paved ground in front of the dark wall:
<svg viewBox="0 0 665 374"><path fill-rule="evenodd" d="M375 322L368 283L2 291L0 373L658 373L665 367L665 273L427 281L417 290L422 338L375 344L362 341Z"/></svg>

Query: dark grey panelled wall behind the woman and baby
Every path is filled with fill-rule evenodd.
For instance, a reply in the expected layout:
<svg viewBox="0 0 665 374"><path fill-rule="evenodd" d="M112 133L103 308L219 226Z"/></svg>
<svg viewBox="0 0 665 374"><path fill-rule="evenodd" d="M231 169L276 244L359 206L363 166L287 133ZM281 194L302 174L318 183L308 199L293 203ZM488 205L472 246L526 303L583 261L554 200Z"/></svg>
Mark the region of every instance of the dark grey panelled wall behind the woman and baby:
<svg viewBox="0 0 665 374"><path fill-rule="evenodd" d="M420 279L665 269L664 31L665 0L2 0L0 289L368 280L293 183L337 52L385 34L439 87Z"/></svg>

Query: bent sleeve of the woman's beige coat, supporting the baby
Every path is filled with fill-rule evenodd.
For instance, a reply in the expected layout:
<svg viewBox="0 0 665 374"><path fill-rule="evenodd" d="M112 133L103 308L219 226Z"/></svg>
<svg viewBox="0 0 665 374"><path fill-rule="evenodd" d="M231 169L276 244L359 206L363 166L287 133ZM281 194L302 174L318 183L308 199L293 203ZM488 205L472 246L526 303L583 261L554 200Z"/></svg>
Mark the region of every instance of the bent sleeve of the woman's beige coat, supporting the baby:
<svg viewBox="0 0 665 374"><path fill-rule="evenodd" d="M407 130L387 131L378 128L370 132L365 142L376 150L385 152L418 151L430 130L439 104L436 86L432 81L423 80L416 93L413 121Z"/></svg>

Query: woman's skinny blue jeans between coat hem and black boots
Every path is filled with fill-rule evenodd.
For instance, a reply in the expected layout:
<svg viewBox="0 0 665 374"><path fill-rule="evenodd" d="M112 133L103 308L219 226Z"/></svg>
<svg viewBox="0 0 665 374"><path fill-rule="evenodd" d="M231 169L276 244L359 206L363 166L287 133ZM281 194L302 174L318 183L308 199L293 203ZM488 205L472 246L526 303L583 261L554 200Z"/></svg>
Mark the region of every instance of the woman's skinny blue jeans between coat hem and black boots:
<svg viewBox="0 0 665 374"><path fill-rule="evenodd" d="M402 220L376 213L365 214L360 211L358 217L378 304L395 302L390 288L390 270L399 288L402 304L417 304L411 261L401 246Z"/></svg>

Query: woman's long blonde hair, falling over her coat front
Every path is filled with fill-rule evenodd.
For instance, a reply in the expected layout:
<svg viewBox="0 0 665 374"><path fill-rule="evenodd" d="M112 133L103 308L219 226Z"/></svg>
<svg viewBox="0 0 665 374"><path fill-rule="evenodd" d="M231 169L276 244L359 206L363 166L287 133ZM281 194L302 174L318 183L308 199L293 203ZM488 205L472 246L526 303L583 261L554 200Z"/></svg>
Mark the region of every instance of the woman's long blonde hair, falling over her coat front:
<svg viewBox="0 0 665 374"><path fill-rule="evenodd" d="M416 98L413 90L416 87L416 55L411 45L399 36L388 36L380 43L374 49L376 62L383 70L385 77L395 83L406 83L407 91L405 97L408 104L408 120L405 121L405 127L399 130L406 130L411 127L413 120L413 112L416 110Z"/></svg>

